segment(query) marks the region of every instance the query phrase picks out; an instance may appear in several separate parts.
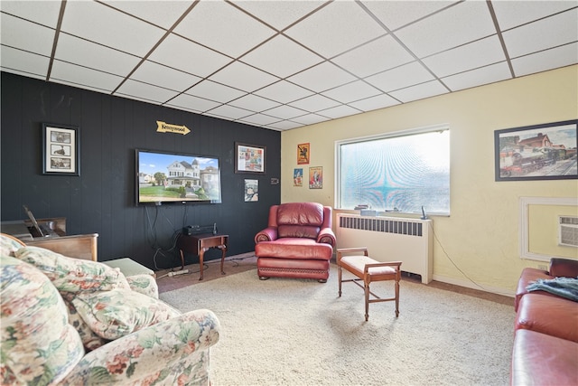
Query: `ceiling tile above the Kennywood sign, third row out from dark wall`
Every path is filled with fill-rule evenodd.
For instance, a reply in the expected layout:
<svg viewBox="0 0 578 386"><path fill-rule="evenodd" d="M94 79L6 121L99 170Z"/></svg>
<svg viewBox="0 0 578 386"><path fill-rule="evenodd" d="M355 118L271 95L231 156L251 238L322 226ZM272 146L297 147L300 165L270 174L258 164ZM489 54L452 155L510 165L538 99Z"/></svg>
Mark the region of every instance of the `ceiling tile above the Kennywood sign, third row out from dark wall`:
<svg viewBox="0 0 578 386"><path fill-rule="evenodd" d="M227 56L175 34L167 36L148 59L200 78L209 76L230 62Z"/></svg>

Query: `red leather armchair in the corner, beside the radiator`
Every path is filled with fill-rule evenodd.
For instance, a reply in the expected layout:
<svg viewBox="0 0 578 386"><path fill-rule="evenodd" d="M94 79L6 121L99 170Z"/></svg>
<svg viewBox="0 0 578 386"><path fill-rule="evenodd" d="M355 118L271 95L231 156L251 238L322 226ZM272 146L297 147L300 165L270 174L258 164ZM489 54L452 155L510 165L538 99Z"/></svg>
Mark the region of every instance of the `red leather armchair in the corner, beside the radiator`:
<svg viewBox="0 0 578 386"><path fill-rule="evenodd" d="M255 236L259 278L329 278L335 247L331 207L288 202L269 209L266 229Z"/></svg>

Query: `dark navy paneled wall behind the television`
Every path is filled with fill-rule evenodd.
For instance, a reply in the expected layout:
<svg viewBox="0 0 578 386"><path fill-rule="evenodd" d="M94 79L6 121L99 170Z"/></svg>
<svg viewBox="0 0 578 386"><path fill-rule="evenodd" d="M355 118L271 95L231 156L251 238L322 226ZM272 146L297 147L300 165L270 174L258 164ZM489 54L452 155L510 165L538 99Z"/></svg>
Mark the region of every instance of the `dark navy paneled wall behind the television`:
<svg viewBox="0 0 578 386"><path fill-rule="evenodd" d="M171 251L184 225L217 222L229 235L228 255L251 252L279 203L281 135L218 118L2 72L1 219L67 218L69 234L99 234L98 259L130 257L155 268L180 265ZM182 136L157 133L156 121L184 125ZM80 175L42 174L42 122L79 127ZM235 174L235 142L266 146L266 174ZM222 203L135 206L135 148L220 158ZM245 179L259 181L259 201L244 202ZM219 257L210 250L206 258ZM188 262L198 261L189 256Z"/></svg>

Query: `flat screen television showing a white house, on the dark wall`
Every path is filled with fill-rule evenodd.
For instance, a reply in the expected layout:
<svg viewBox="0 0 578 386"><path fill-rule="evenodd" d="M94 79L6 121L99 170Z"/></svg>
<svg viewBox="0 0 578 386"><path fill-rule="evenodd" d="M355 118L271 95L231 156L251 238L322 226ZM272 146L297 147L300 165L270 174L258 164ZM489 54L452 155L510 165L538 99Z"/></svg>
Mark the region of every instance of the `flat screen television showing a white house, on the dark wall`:
<svg viewBox="0 0 578 386"><path fill-rule="evenodd" d="M219 157L136 149L136 205L220 203Z"/></svg>

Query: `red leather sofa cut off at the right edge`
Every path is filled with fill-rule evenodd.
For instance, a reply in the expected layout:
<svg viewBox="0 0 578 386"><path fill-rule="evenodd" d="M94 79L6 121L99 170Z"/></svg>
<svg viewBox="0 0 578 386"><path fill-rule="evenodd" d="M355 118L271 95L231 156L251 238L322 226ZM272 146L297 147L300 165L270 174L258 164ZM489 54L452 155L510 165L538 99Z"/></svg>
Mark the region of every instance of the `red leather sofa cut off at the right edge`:
<svg viewBox="0 0 578 386"><path fill-rule="evenodd" d="M512 385L578 384L578 303L550 292L528 292L537 279L578 277L578 261L551 259L547 271L524 268L516 292Z"/></svg>

